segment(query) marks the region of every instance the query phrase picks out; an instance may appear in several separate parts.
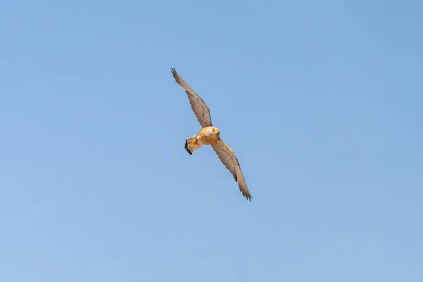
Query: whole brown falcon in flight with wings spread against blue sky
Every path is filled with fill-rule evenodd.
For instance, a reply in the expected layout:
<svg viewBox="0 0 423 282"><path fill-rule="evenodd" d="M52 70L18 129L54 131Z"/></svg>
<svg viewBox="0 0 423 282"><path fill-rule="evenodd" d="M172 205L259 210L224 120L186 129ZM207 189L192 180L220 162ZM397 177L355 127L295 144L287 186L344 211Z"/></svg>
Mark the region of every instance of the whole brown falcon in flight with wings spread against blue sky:
<svg viewBox="0 0 423 282"><path fill-rule="evenodd" d="M183 87L185 92L187 92L188 99L190 99L191 109L194 111L197 120L202 126L202 129L199 133L197 133L197 135L188 137L185 140L185 149L189 154L192 154L196 149L204 145L212 146L221 162L226 166L226 168L228 168L229 171L231 171L233 178L238 182L238 187L244 197L251 201L252 197L248 191L247 183L245 183L245 178L243 176L243 172L241 171L238 159L235 157L235 153L232 149L221 140L220 130L213 126L209 107L206 103L204 103L201 97L192 90L190 85L188 85L188 83L178 75L175 68L171 68L171 71L173 78L175 78L176 82L178 82L178 85Z"/></svg>

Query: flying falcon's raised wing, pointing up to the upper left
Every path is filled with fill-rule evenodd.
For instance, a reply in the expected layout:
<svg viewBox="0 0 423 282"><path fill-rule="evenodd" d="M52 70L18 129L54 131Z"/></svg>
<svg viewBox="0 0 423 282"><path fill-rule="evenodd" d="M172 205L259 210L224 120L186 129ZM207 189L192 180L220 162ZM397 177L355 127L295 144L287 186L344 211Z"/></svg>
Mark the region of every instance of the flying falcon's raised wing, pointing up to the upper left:
<svg viewBox="0 0 423 282"><path fill-rule="evenodd" d="M209 107L204 103L200 96L195 93L194 90L185 82L179 75L176 73L175 68L171 68L173 78L175 78L178 85L182 86L185 89L185 92L188 94L190 99L191 109L194 111L197 120L200 122L200 125L205 128L207 126L212 126L212 118L210 116Z"/></svg>

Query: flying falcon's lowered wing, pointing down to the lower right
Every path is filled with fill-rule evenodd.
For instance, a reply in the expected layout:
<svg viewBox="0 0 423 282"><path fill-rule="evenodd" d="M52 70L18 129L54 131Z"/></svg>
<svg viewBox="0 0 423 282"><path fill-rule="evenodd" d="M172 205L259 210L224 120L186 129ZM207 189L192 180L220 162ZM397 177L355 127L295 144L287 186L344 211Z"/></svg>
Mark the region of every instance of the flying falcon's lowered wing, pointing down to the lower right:
<svg viewBox="0 0 423 282"><path fill-rule="evenodd" d="M243 171L241 171L240 163L238 162L238 159L236 159L235 153L228 145L225 144L225 142L220 139L212 143L212 147L221 162L226 166L226 168L228 168L229 171L231 171L235 181L238 181L238 186L244 197L251 201L252 197L248 191L247 183L245 183L243 176Z"/></svg>

